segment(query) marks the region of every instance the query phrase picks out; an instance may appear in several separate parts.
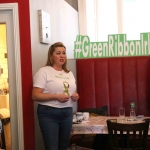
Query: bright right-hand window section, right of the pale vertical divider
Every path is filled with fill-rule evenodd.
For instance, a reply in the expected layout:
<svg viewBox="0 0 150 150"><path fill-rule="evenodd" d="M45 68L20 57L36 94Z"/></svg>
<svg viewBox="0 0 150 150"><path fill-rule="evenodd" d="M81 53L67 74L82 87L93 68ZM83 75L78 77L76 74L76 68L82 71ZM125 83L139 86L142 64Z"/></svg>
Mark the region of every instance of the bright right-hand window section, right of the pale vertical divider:
<svg viewBox="0 0 150 150"><path fill-rule="evenodd" d="M150 0L123 0L123 33L127 40L140 39L140 33L150 32Z"/></svg>

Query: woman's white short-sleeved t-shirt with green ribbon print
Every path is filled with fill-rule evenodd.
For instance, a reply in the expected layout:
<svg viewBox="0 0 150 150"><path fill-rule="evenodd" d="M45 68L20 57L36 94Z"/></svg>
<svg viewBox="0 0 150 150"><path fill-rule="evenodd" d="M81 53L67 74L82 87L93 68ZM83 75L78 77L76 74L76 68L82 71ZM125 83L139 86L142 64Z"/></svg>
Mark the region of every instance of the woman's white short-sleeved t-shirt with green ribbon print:
<svg viewBox="0 0 150 150"><path fill-rule="evenodd" d="M72 95L76 92L76 83L73 73L66 73L64 70L57 71L51 66L42 67L37 71L33 79L33 87L44 89L43 93L51 94L67 94ZM47 102L38 102L42 105L48 105L57 108L72 107L72 99L65 103L58 100L50 100Z"/></svg>

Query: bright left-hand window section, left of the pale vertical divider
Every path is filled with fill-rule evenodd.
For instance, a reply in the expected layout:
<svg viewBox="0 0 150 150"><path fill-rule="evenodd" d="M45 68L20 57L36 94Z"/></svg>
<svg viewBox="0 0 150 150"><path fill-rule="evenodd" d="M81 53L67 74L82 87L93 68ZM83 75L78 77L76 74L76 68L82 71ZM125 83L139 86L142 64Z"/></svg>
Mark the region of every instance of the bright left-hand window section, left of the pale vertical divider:
<svg viewBox="0 0 150 150"><path fill-rule="evenodd" d="M86 0L87 34L92 42L107 41L117 34L116 0Z"/></svg>

